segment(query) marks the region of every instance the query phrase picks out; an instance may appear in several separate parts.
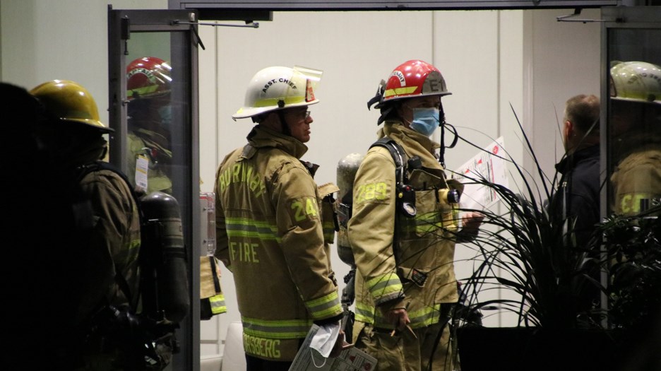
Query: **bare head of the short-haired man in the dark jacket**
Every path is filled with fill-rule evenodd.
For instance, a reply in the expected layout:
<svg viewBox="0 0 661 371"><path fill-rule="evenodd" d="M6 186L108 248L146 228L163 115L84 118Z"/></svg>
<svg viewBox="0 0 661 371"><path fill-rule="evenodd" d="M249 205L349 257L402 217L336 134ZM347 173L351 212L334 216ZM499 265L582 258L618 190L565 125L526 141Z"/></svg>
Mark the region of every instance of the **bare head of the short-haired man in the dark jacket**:
<svg viewBox="0 0 661 371"><path fill-rule="evenodd" d="M599 143L599 98L579 94L565 105L562 137L567 153Z"/></svg>

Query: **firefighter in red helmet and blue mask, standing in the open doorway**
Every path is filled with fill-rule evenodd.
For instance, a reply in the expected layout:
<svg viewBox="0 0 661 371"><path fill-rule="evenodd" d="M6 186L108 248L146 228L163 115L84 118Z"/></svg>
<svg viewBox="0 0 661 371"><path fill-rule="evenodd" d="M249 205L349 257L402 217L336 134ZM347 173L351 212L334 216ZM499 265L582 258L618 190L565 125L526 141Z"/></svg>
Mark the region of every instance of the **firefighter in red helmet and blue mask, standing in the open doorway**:
<svg viewBox="0 0 661 371"><path fill-rule="evenodd" d="M348 223L357 266L352 338L377 359L378 370L455 367L448 321L458 301L453 259L462 187L446 178L440 145L430 139L445 124L441 97L448 94L436 67L410 60L368 103L381 109L379 138L402 150L369 149L355 177ZM400 155L408 165L395 177ZM460 232L475 237L482 218L466 215Z"/></svg>

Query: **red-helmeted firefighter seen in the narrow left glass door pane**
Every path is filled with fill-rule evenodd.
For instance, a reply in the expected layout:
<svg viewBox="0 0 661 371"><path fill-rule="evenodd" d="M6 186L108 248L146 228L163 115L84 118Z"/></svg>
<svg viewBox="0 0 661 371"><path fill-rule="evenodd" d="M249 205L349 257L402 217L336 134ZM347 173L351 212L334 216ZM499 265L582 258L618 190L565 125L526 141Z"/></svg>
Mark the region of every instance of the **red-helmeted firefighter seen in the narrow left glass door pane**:
<svg viewBox="0 0 661 371"><path fill-rule="evenodd" d="M141 192L171 194L172 67L157 57L135 59L126 66L126 89L129 179ZM141 162L146 166L140 167ZM138 171L136 166L140 167ZM141 174L145 167L146 179L136 180L136 172Z"/></svg>

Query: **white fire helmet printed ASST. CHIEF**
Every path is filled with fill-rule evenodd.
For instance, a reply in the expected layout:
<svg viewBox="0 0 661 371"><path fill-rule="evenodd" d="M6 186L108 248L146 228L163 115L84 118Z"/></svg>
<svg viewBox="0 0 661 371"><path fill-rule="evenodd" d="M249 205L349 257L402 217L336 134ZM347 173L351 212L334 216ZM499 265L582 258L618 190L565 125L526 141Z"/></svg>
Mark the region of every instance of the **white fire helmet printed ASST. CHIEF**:
<svg viewBox="0 0 661 371"><path fill-rule="evenodd" d="M244 106L232 119L244 119L269 111L314 105L322 71L306 67L267 67L255 73L248 84Z"/></svg>

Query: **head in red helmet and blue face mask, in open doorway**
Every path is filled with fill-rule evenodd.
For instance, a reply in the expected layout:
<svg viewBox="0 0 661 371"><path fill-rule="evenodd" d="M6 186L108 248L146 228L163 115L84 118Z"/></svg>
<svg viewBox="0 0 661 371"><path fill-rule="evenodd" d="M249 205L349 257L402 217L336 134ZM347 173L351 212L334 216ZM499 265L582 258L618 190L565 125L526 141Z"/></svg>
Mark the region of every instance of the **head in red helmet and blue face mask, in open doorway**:
<svg viewBox="0 0 661 371"><path fill-rule="evenodd" d="M388 81L381 81L379 91L367 107L378 102L375 107L381 109L381 117L377 124L398 118L406 126L417 122L412 129L431 135L430 131L444 121L441 97L450 94L439 69L425 61L412 59L395 67ZM425 121L429 124L423 124ZM431 124L435 127L432 128Z"/></svg>

